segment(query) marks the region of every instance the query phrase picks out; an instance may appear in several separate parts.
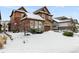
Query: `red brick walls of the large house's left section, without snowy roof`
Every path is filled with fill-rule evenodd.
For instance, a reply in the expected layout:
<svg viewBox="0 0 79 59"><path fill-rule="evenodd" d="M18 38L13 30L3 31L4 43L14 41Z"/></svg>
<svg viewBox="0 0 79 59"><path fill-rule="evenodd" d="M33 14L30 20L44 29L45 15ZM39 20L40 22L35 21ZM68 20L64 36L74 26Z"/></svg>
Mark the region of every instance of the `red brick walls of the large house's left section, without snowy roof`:
<svg viewBox="0 0 79 59"><path fill-rule="evenodd" d="M31 26L33 26L33 28L35 28L35 26L37 26L37 24L39 25L40 22L42 23L41 30L43 30L43 26L44 25L43 25L43 21L42 20L40 20L40 21L38 20L37 21L37 19L31 19L31 18L27 18L27 17L25 19L21 20L24 16L27 16L27 15L24 13L26 11L23 10L22 8L19 8L19 10L21 12L17 11L17 10L16 11L12 11L12 14L10 16L11 31L13 31L13 30L17 30L17 31L29 31L29 29L31 28ZM37 24L35 24L35 22L37 22Z"/></svg>

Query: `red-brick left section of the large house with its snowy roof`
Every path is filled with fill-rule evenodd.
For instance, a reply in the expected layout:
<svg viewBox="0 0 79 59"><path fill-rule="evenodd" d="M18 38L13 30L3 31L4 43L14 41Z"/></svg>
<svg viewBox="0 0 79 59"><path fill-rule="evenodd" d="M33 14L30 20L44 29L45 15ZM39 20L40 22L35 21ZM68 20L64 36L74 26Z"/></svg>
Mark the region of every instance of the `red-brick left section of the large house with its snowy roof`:
<svg viewBox="0 0 79 59"><path fill-rule="evenodd" d="M29 31L30 29L39 29L44 31L45 19L39 15L28 13L24 7L13 10L10 15L10 30Z"/></svg>

